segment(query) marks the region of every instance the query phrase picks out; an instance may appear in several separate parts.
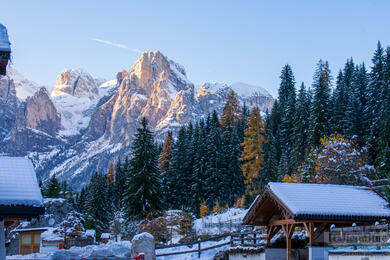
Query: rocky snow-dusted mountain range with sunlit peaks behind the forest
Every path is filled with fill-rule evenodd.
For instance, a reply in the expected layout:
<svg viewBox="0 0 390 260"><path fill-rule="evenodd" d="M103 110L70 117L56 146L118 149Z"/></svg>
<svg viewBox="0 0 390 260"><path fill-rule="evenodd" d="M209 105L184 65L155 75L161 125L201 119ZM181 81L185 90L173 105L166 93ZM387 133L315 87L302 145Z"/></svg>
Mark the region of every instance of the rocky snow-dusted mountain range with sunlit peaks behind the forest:
<svg viewBox="0 0 390 260"><path fill-rule="evenodd" d="M220 112L231 89L247 106L265 111L273 104L266 90L244 83L195 90L185 69L159 51L143 53L114 80L64 70L47 89L12 68L0 78L0 153L28 156L41 179L56 174L76 189L128 154L142 117L162 140L168 130Z"/></svg>

